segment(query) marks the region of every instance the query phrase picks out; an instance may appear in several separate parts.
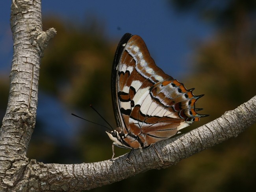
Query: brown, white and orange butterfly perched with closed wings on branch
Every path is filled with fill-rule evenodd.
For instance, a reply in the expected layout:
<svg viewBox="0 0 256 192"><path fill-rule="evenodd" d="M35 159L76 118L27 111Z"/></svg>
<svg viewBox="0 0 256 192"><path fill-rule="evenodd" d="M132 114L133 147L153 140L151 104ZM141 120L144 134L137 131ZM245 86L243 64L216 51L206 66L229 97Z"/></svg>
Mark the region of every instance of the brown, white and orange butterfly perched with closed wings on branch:
<svg viewBox="0 0 256 192"><path fill-rule="evenodd" d="M124 34L112 66L111 93L117 128L106 131L114 146L147 149L173 137L194 121L208 116L198 114L198 98L171 76L165 74L150 56L143 39Z"/></svg>

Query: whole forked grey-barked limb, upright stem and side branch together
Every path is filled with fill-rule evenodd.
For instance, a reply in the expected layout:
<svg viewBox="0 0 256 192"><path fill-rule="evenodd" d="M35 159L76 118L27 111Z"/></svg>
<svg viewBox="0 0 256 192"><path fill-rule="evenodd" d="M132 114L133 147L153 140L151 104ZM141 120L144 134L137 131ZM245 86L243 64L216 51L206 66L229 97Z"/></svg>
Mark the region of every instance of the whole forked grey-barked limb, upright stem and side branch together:
<svg viewBox="0 0 256 192"><path fill-rule="evenodd" d="M41 0L13 0L13 62L6 115L0 129L0 191L82 191L108 185L150 169L167 168L181 159L237 137L256 123L256 96L220 118L189 133L126 155L82 164L43 164L26 152L35 127L39 68L43 51L56 31L42 31ZM43 67L43 66L42 66ZM161 162L163 161L163 163Z"/></svg>

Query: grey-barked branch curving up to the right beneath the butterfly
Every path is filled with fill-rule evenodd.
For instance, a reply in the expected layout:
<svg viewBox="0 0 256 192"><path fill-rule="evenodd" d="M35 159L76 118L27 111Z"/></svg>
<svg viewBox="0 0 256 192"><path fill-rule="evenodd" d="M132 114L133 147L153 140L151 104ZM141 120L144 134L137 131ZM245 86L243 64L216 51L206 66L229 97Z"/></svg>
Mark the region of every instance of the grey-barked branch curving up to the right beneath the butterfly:
<svg viewBox="0 0 256 192"><path fill-rule="evenodd" d="M82 164L43 164L31 160L21 181L28 188L40 190L81 191L115 183L151 169L170 167L180 160L237 137L256 123L256 96L220 118L175 138L154 144L164 164L153 148L135 150L133 165L126 155L112 160Z"/></svg>

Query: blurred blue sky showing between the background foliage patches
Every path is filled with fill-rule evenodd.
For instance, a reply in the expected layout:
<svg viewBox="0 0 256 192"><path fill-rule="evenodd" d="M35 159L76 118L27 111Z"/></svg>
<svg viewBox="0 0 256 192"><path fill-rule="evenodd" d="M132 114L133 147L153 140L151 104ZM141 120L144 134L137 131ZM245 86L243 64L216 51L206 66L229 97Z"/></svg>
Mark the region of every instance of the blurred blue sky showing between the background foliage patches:
<svg viewBox="0 0 256 192"><path fill-rule="evenodd" d="M124 33L140 35L156 64L167 74L181 80L189 74L191 64L189 55L194 51L191 44L209 38L213 31L211 26L201 22L194 13L176 12L167 0L76 0L70 2L70 0L42 0L43 17L58 16L63 18L64 22L67 20L67 23L70 20L82 23L88 16L95 16L105 27L106 37L115 40L117 44ZM10 6L10 0L0 3L1 78L9 78L11 69L13 42L9 24ZM77 122L72 122L74 118L65 111L65 106L40 92L37 118L47 120L48 125L45 127L48 132L61 133L64 137L70 135L71 130L74 131L74 124Z"/></svg>

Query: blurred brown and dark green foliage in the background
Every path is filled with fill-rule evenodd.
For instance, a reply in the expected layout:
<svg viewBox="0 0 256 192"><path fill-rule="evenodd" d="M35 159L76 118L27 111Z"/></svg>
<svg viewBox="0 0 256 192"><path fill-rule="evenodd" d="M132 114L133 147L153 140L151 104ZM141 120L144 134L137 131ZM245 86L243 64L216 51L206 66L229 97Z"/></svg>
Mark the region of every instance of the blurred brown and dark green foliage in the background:
<svg viewBox="0 0 256 192"><path fill-rule="evenodd" d="M256 2L254 0L169 0L178 14L189 11L215 27L210 39L195 40L190 73L182 79L195 94L205 94L197 107L210 114L187 127L194 129L235 109L256 94ZM91 17L78 26L72 20L43 18L44 30L56 28L57 35L45 50L39 81L40 92L56 98L70 113L104 124L90 109L101 113L113 127L110 90L111 65L117 44L104 35L104 26ZM120 37L121 38L121 37ZM146 42L147 43L147 42ZM173 74L170 74L173 76ZM178 79L180 80L180 79ZM3 92L7 81L0 79ZM7 103L1 95L1 110ZM50 109L48 109L50 110ZM103 127L68 117L78 128L72 140L61 140L45 131L37 119L28 157L46 163L82 163L110 159L111 141ZM151 170L92 191L252 191L256 181L256 126L237 138L202 151L164 170ZM221 134L221 133L220 133ZM128 150L115 148L117 155ZM109 175L111 177L111 175Z"/></svg>

